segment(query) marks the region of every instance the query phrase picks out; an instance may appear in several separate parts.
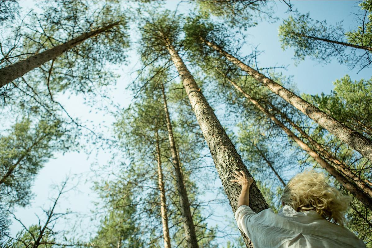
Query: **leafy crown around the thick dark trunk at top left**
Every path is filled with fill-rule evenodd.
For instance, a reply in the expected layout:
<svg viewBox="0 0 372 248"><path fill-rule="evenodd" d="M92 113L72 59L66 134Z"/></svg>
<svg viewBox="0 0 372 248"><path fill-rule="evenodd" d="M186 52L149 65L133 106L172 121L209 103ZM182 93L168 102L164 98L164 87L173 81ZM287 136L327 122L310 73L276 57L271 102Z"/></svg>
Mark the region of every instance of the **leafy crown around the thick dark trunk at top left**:
<svg viewBox="0 0 372 248"><path fill-rule="evenodd" d="M129 46L128 17L120 3L83 1L47 2L42 4L41 15L33 16L33 22L42 27L43 32L28 36L33 41L23 42L27 50L42 51L90 32L119 22L113 28L87 39L82 44L60 55L53 64L49 89L52 92L70 88L74 91L90 92L99 85L113 81L113 74L106 68L107 63L122 63ZM35 27L30 27L36 29ZM37 30L37 29L36 29ZM42 42L42 46L41 46ZM42 74L48 77L50 64ZM94 86L93 86L94 84Z"/></svg>

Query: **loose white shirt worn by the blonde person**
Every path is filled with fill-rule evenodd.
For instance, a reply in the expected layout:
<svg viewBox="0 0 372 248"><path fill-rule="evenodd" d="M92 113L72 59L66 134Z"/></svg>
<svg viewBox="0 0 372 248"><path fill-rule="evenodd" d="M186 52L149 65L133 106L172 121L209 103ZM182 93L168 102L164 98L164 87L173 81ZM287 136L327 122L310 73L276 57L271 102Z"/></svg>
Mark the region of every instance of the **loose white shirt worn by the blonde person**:
<svg viewBox="0 0 372 248"><path fill-rule="evenodd" d="M235 212L235 219L255 248L366 247L352 232L317 212L296 212L287 205L278 214L272 209L255 213L243 205Z"/></svg>

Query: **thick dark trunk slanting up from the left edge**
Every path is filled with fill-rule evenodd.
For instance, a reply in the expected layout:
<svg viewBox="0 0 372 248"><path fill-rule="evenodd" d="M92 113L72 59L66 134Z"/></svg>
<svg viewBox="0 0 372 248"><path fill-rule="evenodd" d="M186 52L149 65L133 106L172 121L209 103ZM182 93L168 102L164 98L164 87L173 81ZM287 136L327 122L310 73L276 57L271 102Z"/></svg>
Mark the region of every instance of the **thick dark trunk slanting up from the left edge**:
<svg viewBox="0 0 372 248"><path fill-rule="evenodd" d="M115 22L103 28L100 28L100 29L97 29L91 32L83 33L82 35L74 39L71 39L70 41L65 42L61 45L55 46L39 54L32 55L31 57L28 57L25 60L8 65L7 67L1 68L0 69L0 87L3 87L7 83L10 83L11 81L21 77L25 73L28 73L34 68L39 67L45 62L51 59L57 58L63 52L73 48L74 46L77 46L78 44L85 41L86 39L99 35L100 33L103 33L113 28L114 26L119 25L119 23L120 22Z"/></svg>

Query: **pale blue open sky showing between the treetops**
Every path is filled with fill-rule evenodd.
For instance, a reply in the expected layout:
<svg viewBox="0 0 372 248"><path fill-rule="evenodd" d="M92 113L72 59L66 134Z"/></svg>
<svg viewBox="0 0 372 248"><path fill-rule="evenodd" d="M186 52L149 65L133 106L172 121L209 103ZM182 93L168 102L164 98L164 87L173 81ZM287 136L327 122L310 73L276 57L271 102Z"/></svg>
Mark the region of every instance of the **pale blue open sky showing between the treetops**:
<svg viewBox="0 0 372 248"><path fill-rule="evenodd" d="M35 1L19 1L20 5L26 12L28 8L34 7ZM327 20L328 24L335 24L343 20L344 27L354 27L353 22L354 16L352 12L357 10L356 1L291 1L294 9L298 9L301 13L310 12L313 19ZM122 4L126 4L125 1ZM167 1L167 7L174 9L178 4L178 1ZM288 69L282 70L284 75L293 76L293 81L297 85L299 92L317 94L317 93L329 93L333 89L332 82L336 79L349 74L354 80L361 78L371 77L370 70L363 70L357 74L357 69L350 71L345 65L340 65L336 60L330 64L319 64L318 62L312 61L306 58L305 61L299 63L298 66L294 65L293 51L288 49L282 51L278 39L278 27L282 23L282 19L288 17L289 13L285 13L288 7L280 1L276 1L277 10L276 15L280 17L280 20L276 23L259 23L254 28L247 30L247 43L253 46L258 46L260 51L264 51L259 56L259 65L261 67L272 67L285 65ZM187 12L188 4L180 4L180 10ZM132 33L133 34L133 33ZM244 54L251 52L251 46L245 47L246 51ZM134 52L131 52L129 56L129 64L127 66L112 67L121 77L118 79L118 83L115 91L112 92L113 99L121 104L122 107L128 106L131 102L131 94L125 90L125 87L133 79L133 71L137 68L138 56ZM67 109L71 116L78 117L89 125L97 125L106 121L106 125L109 126L113 121L112 116L108 113L98 112L96 114L89 113L91 109L89 106L84 105L83 99L78 96L60 96L58 100ZM221 117L222 116L218 116ZM94 174L91 171L92 164L103 165L110 159L109 151L102 151L97 155L88 156L84 152L67 152L65 154L55 154L55 158L51 159L44 168L39 172L36 177L35 183L32 187L32 191L35 197L32 200L32 204L25 209L17 209L16 216L20 218L26 226L37 222L37 218L34 213L41 215L40 207L48 207L50 202L48 197L53 196L55 191L51 190L52 184L59 184L70 174L74 179L71 180L71 185L78 183L77 190L70 191L66 197L61 199L59 210L64 211L66 208L70 208L73 211L89 214L90 209L93 209L92 201L97 200L96 195L90 189L92 184L86 182L87 179L97 177L99 175ZM254 175L253 175L254 176ZM220 182L216 182L216 186L220 186ZM226 200L227 202L227 200ZM215 209L216 215L225 216L225 206L217 207ZM233 218L232 214L228 215ZM210 219L207 220L209 225L215 225L219 223L220 227L224 227L226 222L224 218ZM89 221L84 220L83 226L89 229L87 226ZM11 226L12 234L14 235L20 230L20 225L13 222ZM61 226L62 228L62 226ZM220 247L225 247L225 239L219 239L221 243Z"/></svg>

